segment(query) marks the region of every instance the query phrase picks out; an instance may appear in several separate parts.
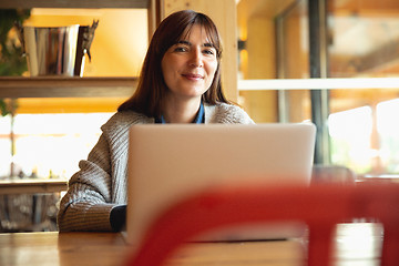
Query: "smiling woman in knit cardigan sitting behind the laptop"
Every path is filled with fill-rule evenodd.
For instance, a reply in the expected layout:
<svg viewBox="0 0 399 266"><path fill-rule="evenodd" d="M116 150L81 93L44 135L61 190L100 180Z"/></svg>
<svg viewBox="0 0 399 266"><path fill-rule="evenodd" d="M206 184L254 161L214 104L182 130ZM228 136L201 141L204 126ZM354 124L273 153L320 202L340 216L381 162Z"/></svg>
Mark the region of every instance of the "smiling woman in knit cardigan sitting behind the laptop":
<svg viewBox="0 0 399 266"><path fill-rule="evenodd" d="M146 123L254 123L221 85L221 40L203 13L163 20L144 60L137 90L101 129L60 204L59 229L120 231L125 218L127 131Z"/></svg>

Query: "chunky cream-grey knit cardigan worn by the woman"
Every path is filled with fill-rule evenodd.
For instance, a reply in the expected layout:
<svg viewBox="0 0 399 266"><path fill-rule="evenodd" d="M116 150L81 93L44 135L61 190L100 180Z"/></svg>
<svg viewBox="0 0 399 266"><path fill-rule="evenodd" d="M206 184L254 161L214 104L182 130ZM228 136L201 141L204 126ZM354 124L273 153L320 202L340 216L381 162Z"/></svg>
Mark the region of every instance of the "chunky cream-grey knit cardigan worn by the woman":
<svg viewBox="0 0 399 266"><path fill-rule="evenodd" d="M204 105L205 123L253 124L241 108L221 103ZM99 142L80 171L69 181L60 202L58 226L66 231L112 231L111 209L126 204L127 132L132 124L154 123L153 117L125 111L115 113L104 125Z"/></svg>

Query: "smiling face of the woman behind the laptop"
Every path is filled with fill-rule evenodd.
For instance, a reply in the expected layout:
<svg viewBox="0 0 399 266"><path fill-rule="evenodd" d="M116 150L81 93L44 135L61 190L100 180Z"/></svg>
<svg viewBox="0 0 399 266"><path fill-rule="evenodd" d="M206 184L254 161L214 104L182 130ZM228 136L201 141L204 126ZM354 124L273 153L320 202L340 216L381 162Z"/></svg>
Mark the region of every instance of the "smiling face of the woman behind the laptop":
<svg viewBox="0 0 399 266"><path fill-rule="evenodd" d="M168 96L201 100L217 69L216 49L205 30L194 24L188 34L165 52L161 66Z"/></svg>

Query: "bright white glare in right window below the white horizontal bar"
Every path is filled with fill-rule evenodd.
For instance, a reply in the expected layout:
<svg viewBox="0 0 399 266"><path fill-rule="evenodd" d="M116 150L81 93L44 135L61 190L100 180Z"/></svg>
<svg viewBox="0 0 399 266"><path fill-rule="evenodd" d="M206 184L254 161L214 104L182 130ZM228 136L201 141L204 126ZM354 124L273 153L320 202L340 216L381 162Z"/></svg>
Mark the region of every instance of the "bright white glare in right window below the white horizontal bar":
<svg viewBox="0 0 399 266"><path fill-rule="evenodd" d="M399 174L399 99L329 115L331 162L358 174Z"/></svg>

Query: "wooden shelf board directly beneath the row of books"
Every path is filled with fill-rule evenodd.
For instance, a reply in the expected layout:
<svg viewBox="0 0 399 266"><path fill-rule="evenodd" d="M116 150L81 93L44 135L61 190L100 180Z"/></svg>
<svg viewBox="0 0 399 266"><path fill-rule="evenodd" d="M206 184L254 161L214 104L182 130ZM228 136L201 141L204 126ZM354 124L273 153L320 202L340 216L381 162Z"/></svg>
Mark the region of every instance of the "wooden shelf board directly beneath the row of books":
<svg viewBox="0 0 399 266"><path fill-rule="evenodd" d="M137 78L0 76L0 98L129 98Z"/></svg>

